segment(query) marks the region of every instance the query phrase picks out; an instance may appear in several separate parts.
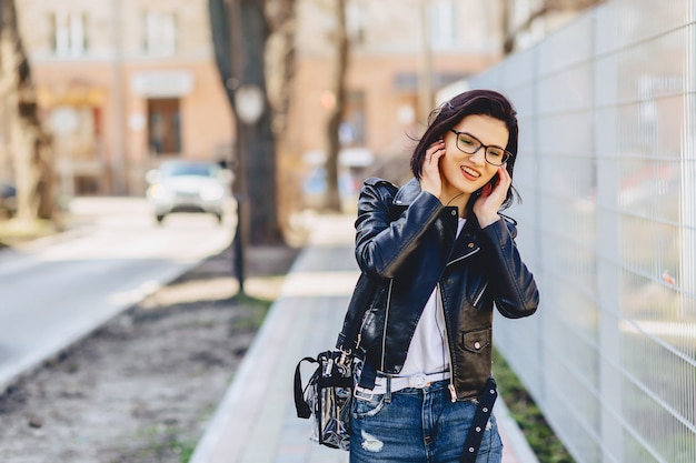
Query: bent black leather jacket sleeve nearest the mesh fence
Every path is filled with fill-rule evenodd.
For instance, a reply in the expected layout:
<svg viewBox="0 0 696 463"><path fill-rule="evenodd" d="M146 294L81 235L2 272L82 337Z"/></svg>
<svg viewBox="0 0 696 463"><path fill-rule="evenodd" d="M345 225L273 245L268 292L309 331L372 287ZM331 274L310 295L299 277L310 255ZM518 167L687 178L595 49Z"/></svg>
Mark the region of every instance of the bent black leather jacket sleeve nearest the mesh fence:
<svg viewBox="0 0 696 463"><path fill-rule="evenodd" d="M489 274L498 311L508 319L531 315L539 304L539 292L515 244L516 229L509 230L501 218L481 232L490 244Z"/></svg>

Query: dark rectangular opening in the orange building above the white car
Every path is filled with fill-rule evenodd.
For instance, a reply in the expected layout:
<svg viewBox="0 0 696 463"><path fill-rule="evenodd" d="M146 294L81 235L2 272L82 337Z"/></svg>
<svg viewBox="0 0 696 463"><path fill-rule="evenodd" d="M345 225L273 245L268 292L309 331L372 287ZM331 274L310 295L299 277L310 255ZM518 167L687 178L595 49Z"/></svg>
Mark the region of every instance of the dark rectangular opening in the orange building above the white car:
<svg viewBox="0 0 696 463"><path fill-rule="evenodd" d="M173 154L181 151L178 99L148 100L148 144L150 151L157 154Z"/></svg>

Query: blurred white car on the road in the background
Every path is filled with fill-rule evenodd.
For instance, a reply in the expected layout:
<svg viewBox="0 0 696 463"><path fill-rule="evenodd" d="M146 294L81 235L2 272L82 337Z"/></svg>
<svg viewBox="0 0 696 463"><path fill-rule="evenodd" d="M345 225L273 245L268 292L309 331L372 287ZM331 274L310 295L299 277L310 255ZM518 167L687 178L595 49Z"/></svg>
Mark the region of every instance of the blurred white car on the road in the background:
<svg viewBox="0 0 696 463"><path fill-rule="evenodd" d="M175 212L210 213L222 223L231 177L215 162L166 161L146 174L147 199L158 223Z"/></svg>

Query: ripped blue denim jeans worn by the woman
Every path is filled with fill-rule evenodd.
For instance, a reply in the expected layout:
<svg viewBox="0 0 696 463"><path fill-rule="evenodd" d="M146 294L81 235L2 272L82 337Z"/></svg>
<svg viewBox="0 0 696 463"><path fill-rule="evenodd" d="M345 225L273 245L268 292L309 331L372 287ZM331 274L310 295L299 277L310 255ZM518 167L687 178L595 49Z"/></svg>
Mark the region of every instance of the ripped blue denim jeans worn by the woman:
<svg viewBox="0 0 696 463"><path fill-rule="evenodd" d="M476 413L476 401L455 402L448 381L391 394L356 391L350 436L351 463L458 463ZM476 463L500 463L503 442L491 415Z"/></svg>

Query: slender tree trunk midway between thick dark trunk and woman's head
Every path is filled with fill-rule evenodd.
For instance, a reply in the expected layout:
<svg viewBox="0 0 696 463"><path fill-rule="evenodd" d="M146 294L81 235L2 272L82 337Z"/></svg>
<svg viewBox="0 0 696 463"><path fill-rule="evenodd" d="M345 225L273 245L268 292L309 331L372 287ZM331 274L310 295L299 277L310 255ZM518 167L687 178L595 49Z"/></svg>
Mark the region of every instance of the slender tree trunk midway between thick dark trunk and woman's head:
<svg viewBox="0 0 696 463"><path fill-rule="evenodd" d="M334 95L336 103L331 108L327 123L327 197L326 208L340 211L338 191L338 154L340 152L339 129L346 105L346 72L348 70L348 32L346 30L346 0L336 0L336 63L334 68Z"/></svg>

